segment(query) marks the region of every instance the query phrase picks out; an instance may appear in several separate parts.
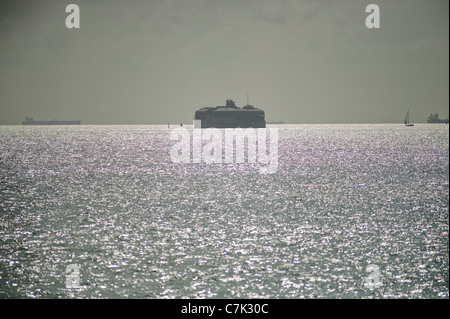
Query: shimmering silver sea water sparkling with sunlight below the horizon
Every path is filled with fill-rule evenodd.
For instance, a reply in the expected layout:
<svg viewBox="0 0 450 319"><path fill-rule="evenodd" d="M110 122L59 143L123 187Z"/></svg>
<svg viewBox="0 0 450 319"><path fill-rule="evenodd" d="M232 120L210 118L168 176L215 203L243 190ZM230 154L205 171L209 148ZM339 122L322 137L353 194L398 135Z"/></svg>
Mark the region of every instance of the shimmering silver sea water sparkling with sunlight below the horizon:
<svg viewBox="0 0 450 319"><path fill-rule="evenodd" d="M165 126L0 127L0 297L448 298L447 125L272 127L272 175L174 164Z"/></svg>

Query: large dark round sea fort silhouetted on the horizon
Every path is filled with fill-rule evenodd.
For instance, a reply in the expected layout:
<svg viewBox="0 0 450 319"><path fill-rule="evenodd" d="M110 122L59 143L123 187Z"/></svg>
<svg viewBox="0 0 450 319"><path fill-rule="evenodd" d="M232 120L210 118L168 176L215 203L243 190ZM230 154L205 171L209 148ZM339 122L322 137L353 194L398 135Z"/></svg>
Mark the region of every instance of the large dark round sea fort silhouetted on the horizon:
<svg viewBox="0 0 450 319"><path fill-rule="evenodd" d="M201 120L201 128L265 128L264 111L252 105L239 108L233 100L225 106L203 107L195 112L195 120Z"/></svg>

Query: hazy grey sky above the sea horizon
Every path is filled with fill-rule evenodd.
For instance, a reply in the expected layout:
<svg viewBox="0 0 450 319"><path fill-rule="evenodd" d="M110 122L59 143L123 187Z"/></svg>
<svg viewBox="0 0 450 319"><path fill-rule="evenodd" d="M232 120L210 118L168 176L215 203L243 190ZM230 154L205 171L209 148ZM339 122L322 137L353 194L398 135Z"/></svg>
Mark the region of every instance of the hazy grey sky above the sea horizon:
<svg viewBox="0 0 450 319"><path fill-rule="evenodd" d="M0 124L192 123L247 92L268 120L417 123L448 86L448 0L0 1Z"/></svg>

